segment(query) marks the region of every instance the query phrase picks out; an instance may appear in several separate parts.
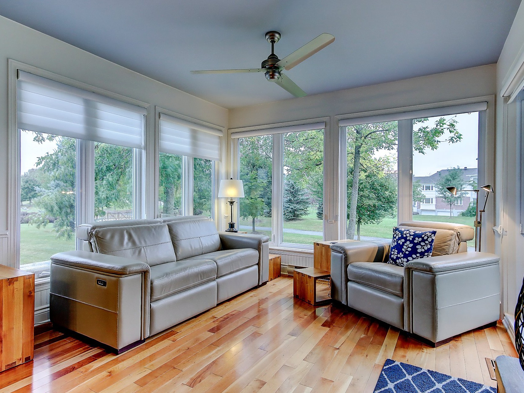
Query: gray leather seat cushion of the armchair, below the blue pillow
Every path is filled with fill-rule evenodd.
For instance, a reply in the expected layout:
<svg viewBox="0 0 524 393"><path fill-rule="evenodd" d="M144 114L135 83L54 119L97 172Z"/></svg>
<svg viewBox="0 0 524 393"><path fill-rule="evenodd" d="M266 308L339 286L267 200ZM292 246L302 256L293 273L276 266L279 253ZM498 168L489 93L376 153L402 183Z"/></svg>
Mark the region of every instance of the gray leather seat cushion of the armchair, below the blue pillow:
<svg viewBox="0 0 524 393"><path fill-rule="evenodd" d="M353 262L347 266L347 278L398 297L403 296L404 268L382 262Z"/></svg>

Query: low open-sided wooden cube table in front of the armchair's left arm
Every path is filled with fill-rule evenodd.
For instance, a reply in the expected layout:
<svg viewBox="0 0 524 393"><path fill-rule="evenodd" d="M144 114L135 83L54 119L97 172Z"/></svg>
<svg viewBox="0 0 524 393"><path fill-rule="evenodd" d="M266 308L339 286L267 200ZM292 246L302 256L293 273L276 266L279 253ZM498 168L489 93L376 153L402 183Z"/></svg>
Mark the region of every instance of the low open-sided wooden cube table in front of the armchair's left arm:
<svg viewBox="0 0 524 393"><path fill-rule="evenodd" d="M293 296L317 306L331 301L327 293L317 294L316 280L329 278L330 272L316 268L306 267L293 272ZM327 288L326 288L327 289ZM324 292L326 292L324 290Z"/></svg>

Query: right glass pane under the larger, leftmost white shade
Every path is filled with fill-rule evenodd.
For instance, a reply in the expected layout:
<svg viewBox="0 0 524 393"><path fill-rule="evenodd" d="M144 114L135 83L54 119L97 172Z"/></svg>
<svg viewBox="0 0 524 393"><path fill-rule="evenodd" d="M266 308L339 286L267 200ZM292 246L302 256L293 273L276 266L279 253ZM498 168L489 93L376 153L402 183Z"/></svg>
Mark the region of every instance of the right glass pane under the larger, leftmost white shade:
<svg viewBox="0 0 524 393"><path fill-rule="evenodd" d="M95 142L95 221L133 218L133 148Z"/></svg>

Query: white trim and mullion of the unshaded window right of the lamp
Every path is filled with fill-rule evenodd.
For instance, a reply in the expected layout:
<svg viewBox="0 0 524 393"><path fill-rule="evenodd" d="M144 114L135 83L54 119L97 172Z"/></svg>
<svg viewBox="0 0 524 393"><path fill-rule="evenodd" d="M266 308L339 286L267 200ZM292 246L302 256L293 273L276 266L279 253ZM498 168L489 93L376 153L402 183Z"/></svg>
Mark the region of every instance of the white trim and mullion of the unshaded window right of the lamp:
<svg viewBox="0 0 524 393"><path fill-rule="evenodd" d="M260 130L274 130L275 128L282 128L282 127L290 127L289 129L296 129L291 128L294 126L301 126L301 125L311 125L316 123L324 123L324 184L323 184L323 194L324 194L324 219L323 219L323 240L326 240L326 221L328 221L329 213L326 213L326 211L338 211L338 208L333 206L332 203L328 202L328 199L326 199L326 187L330 186L328 176L326 176L326 166L331 167L337 167L338 163L338 157L336 154L334 155L328 155L328 158L330 159L329 163L326 163L326 136L329 135L330 130L330 118L329 117L320 117L320 118L314 118L314 119L303 119L303 120L297 120L297 121L288 121L288 122L282 122L282 123L273 123L273 124L266 124L266 125L260 125L260 126L253 126L253 127L243 127L243 128L235 128L230 129L228 132L228 136L230 136L230 149L232 154L232 167L235 168L235 176L236 178L239 178L240 175L240 161L239 161L239 138L232 138L232 134L236 134L238 132L242 132L241 135L244 135L245 137L251 137L251 136L260 136ZM300 127L298 127L300 129ZM305 131L308 131L309 129L305 129ZM287 131L286 131L287 132ZM300 131L298 131L300 132ZM286 250L286 251L297 251L297 252L307 252L308 254L313 250L313 245L309 244L297 244L297 243L285 243L282 242L282 236L283 236L283 211L282 211L282 203L283 200L283 133L277 132L277 133L270 133L267 132L265 134L272 134L273 136L273 162L272 162L272 190L271 190L271 238L269 240L269 246L273 250ZM335 138L338 139L338 138ZM334 161L332 163L331 161ZM333 192L333 191L332 191ZM236 216L240 216L240 208L239 204L237 204L236 207ZM334 218L334 217L333 217ZM238 220L237 220L238 221ZM331 223L335 223L335 221L332 219ZM336 224L336 223L335 223Z"/></svg>

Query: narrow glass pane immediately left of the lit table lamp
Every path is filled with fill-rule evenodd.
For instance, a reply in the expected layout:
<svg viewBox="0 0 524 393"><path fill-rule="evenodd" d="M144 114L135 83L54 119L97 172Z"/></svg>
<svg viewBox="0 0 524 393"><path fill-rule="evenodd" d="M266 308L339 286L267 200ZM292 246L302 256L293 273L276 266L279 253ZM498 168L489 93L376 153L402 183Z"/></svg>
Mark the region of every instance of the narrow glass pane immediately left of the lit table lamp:
<svg viewBox="0 0 524 393"><path fill-rule="evenodd" d="M193 159L193 214L213 218L213 161Z"/></svg>

